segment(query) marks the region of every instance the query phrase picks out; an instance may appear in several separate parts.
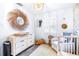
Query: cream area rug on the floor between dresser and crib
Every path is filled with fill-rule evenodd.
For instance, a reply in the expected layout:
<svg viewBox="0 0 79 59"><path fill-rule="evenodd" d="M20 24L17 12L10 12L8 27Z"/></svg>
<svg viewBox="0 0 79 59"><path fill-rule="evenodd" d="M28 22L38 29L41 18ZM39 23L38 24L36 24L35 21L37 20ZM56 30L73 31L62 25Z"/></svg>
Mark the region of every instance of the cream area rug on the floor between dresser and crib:
<svg viewBox="0 0 79 59"><path fill-rule="evenodd" d="M47 44L40 45L30 56L56 56L57 53Z"/></svg>

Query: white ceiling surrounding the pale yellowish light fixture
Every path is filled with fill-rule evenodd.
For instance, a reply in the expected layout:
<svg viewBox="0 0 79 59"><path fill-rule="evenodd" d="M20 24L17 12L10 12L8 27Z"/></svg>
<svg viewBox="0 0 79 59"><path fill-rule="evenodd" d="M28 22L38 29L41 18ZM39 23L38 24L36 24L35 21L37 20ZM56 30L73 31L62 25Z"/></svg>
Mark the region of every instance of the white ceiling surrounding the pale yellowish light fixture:
<svg viewBox="0 0 79 59"><path fill-rule="evenodd" d="M47 11L59 10L61 8L73 7L75 5L76 5L75 3L45 3L43 10L35 10L35 9L33 9L33 3L30 3L30 4L24 3L23 7L29 8L33 12L35 11L35 12L40 13L41 11L47 12Z"/></svg>

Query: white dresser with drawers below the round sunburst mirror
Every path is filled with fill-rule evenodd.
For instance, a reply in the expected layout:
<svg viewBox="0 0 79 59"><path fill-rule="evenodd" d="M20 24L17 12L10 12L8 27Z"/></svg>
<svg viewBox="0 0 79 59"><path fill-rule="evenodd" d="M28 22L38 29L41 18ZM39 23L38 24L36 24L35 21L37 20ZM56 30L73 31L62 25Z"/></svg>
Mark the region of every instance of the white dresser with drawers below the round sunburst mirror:
<svg viewBox="0 0 79 59"><path fill-rule="evenodd" d="M8 39L11 42L11 54L13 56L32 46L35 42L32 34L11 35Z"/></svg>

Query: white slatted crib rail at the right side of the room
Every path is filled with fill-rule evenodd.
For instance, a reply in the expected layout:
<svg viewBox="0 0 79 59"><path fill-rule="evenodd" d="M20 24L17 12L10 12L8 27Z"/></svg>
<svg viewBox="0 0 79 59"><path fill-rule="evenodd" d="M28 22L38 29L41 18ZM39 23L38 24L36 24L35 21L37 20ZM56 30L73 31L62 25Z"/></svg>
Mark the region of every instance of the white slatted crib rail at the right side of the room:
<svg viewBox="0 0 79 59"><path fill-rule="evenodd" d="M78 36L57 36L57 50L62 52L79 55L79 37Z"/></svg>

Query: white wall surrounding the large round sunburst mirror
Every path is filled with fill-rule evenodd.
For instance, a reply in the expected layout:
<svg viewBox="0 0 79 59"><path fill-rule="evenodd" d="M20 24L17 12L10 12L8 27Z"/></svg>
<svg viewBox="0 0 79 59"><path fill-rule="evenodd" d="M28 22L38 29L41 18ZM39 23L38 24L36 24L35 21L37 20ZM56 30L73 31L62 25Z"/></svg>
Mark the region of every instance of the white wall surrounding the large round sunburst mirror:
<svg viewBox="0 0 79 59"><path fill-rule="evenodd" d="M26 7L28 6L29 4L26 5ZM33 39L34 39L34 25L33 25L34 22L33 22L32 13L30 13L30 10L28 10L28 8L24 8L25 5L23 7L19 7L14 3L13 4L11 3L11 4L0 4L0 7L1 7L0 9L0 33L1 33L0 34L0 55L2 55L3 54L2 44L9 35L16 32L29 32L30 34L33 35ZM22 10L28 16L29 26L23 31L13 29L8 23L7 14L10 10L15 8Z"/></svg>

